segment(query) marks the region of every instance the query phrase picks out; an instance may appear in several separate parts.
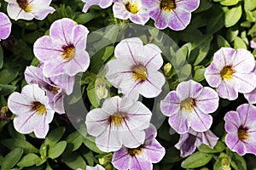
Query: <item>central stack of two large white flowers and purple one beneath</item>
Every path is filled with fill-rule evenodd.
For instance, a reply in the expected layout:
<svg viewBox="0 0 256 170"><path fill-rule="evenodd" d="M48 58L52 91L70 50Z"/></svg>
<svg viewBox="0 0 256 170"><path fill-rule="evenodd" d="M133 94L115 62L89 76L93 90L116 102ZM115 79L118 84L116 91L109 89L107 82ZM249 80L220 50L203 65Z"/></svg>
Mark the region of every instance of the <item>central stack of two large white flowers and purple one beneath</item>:
<svg viewBox="0 0 256 170"><path fill-rule="evenodd" d="M116 59L106 65L106 77L124 95L105 99L102 108L86 116L88 133L96 137L100 150L114 151L112 163L118 169L152 169L165 155L149 123L151 111L137 101L139 94L154 98L161 92L165 77L158 71L163 64L160 53L137 37L119 42Z"/></svg>

